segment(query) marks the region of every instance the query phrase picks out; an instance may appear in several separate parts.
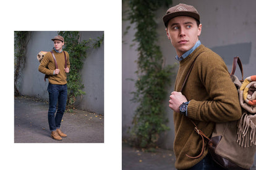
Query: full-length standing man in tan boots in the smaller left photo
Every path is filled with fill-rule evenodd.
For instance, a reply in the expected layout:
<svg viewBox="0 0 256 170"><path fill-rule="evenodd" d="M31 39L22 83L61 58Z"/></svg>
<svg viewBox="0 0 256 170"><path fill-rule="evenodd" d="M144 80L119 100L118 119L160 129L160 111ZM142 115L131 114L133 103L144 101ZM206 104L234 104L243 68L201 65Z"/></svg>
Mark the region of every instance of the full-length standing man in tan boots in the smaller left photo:
<svg viewBox="0 0 256 170"><path fill-rule="evenodd" d="M55 36L51 39L54 42L53 55L51 52L47 52L45 57L40 63L38 70L45 75L48 75L48 92L49 92L49 110L48 110L48 123L51 131L51 137L56 140L62 140L61 137L67 137L64 134L61 127L61 120L66 109L67 102L67 75L70 69L69 54L62 51L64 46L64 38L62 36ZM65 54L64 54L65 53ZM66 65L65 68L65 55ZM54 57L58 68L56 68ZM58 111L56 112L56 106L58 102Z"/></svg>

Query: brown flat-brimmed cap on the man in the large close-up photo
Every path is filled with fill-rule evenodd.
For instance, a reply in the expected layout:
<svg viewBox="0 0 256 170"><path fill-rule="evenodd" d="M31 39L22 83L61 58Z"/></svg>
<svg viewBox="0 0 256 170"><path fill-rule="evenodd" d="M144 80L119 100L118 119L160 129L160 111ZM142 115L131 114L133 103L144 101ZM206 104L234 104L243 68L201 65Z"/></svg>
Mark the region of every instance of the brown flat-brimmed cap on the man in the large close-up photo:
<svg viewBox="0 0 256 170"><path fill-rule="evenodd" d="M164 25L167 26L169 20L178 16L188 16L195 18L200 23L200 15L195 9L194 6L189 6L187 4L179 4L177 6L171 7L166 11L166 14L163 16Z"/></svg>

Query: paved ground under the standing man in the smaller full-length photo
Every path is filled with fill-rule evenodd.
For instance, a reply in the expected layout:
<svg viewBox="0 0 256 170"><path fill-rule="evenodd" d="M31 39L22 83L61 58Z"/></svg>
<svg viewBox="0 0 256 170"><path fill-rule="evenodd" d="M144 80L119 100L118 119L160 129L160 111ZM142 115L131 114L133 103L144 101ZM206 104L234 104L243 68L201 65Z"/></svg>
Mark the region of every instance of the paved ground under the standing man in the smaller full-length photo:
<svg viewBox="0 0 256 170"><path fill-rule="evenodd" d="M65 112L61 130L67 134L61 141L50 137L48 103L31 97L14 99L15 143L104 143L104 117L82 110Z"/></svg>

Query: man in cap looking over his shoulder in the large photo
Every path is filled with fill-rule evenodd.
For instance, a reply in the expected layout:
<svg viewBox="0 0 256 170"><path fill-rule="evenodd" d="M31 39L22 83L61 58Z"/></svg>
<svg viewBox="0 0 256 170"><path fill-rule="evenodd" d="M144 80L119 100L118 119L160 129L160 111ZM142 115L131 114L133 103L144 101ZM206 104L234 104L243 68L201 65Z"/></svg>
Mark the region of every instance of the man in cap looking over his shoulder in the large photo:
<svg viewBox="0 0 256 170"><path fill-rule="evenodd" d="M215 123L241 118L236 87L221 57L199 41L202 24L193 6L179 4L171 7L164 15L163 22L179 61L174 91L169 97L169 107L174 111L175 166L177 169L221 169L208 154L207 147L202 156L197 156L202 150L203 141L194 131L190 119L210 138ZM181 93L194 60L194 67Z"/></svg>

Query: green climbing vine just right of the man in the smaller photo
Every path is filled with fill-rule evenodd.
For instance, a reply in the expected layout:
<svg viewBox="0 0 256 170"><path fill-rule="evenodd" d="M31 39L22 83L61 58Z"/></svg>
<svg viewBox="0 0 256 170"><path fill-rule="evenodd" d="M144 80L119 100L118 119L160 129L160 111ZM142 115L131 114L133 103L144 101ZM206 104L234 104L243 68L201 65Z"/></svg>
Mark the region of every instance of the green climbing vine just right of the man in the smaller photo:
<svg viewBox="0 0 256 170"><path fill-rule="evenodd" d="M59 35L65 39L64 50L69 52L70 72L67 75L67 108L74 108L78 95L84 95L80 71L83 67L83 59L87 57L89 49L100 47L104 41L104 34L98 39L81 41L79 31L59 31Z"/></svg>

